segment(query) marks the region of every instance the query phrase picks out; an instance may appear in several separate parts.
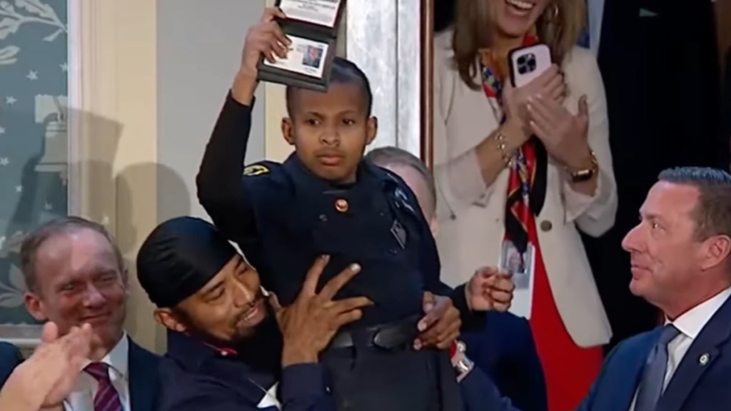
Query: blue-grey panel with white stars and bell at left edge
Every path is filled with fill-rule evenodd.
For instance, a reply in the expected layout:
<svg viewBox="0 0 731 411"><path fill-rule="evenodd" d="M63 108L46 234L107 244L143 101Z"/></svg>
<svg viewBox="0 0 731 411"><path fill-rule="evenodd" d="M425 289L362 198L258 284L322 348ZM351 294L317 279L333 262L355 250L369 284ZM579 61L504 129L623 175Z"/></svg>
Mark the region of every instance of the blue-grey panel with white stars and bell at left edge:
<svg viewBox="0 0 731 411"><path fill-rule="evenodd" d="M23 306L24 233L67 212L67 1L0 1L0 337ZM16 334L17 335L17 334Z"/></svg>

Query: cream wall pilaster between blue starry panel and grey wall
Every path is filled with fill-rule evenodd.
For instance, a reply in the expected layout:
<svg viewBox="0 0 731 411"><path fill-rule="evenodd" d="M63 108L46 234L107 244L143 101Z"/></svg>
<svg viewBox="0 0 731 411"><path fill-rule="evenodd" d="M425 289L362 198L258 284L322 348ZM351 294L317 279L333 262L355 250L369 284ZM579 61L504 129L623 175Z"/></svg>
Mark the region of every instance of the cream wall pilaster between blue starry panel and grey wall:
<svg viewBox="0 0 731 411"><path fill-rule="evenodd" d="M126 330L162 351L134 270L157 224L156 1L68 1L69 214L115 236L129 270Z"/></svg>

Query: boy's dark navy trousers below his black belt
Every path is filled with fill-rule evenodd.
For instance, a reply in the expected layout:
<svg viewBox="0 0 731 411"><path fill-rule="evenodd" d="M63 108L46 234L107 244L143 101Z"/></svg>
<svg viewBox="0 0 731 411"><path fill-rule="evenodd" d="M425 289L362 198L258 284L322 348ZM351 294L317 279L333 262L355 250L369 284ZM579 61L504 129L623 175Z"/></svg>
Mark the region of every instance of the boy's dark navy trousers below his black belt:
<svg viewBox="0 0 731 411"><path fill-rule="evenodd" d="M353 346L330 349L320 361L338 411L462 411L445 351Z"/></svg>

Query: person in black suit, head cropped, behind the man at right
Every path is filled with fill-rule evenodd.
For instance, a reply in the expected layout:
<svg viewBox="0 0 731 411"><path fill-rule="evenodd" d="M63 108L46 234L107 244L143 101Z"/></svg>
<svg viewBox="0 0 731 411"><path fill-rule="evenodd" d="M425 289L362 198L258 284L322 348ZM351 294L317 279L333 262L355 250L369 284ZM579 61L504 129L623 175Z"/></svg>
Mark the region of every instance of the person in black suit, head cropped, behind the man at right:
<svg viewBox="0 0 731 411"><path fill-rule="evenodd" d="M619 208L612 230L602 238L583 239L613 345L658 320L654 307L627 290L629 260L619 246L637 222L645 193L664 168L727 169L730 159L728 138L719 133L719 56L711 1L603 3L603 10L596 10L601 2L588 1L588 7L590 17L603 13L598 59Z"/></svg>

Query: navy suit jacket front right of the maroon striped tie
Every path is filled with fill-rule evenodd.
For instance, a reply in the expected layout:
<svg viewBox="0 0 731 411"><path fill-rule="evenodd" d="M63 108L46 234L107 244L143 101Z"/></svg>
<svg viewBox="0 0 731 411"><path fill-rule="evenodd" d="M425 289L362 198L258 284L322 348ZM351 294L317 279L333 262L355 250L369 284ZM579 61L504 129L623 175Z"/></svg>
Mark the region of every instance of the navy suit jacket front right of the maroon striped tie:
<svg viewBox="0 0 731 411"><path fill-rule="evenodd" d="M133 411L154 411L159 358L129 340L129 405Z"/></svg>

